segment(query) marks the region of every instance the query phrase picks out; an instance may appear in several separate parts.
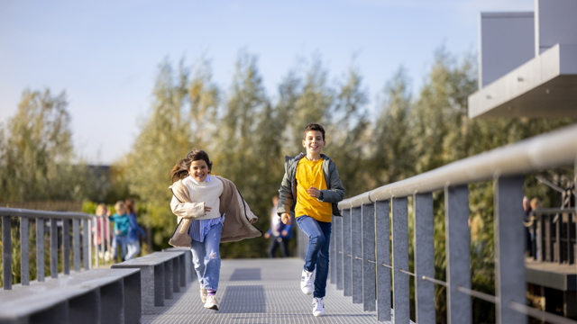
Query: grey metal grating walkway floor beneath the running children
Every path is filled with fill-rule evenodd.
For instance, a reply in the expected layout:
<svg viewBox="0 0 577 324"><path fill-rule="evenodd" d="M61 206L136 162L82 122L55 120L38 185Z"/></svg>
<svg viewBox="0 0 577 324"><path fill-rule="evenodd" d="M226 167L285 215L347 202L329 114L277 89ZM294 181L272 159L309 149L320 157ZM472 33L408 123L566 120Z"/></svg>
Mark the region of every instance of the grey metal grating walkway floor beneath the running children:
<svg viewBox="0 0 577 324"><path fill-rule="evenodd" d="M314 317L312 295L300 291L302 266L298 258L223 260L216 293L220 311L203 307L195 279L155 314L142 315L142 323L378 323L375 311L362 311L362 304L343 297L330 280L326 315Z"/></svg>

